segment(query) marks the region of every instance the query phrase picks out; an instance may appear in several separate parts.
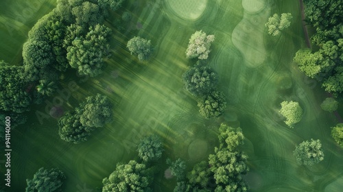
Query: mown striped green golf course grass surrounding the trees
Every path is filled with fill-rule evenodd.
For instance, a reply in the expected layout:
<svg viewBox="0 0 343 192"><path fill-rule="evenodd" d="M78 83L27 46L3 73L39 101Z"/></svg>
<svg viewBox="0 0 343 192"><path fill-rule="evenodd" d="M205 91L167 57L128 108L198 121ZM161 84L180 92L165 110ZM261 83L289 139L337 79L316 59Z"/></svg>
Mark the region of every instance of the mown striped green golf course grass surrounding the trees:
<svg viewBox="0 0 343 192"><path fill-rule="evenodd" d="M29 28L54 8L52 0L35 2L26 21L16 19L15 12L33 9L33 5L23 0L0 3L0 36L5 39L0 58L11 64L21 61L21 46ZM60 140L56 119L44 119L43 124L38 121L35 112L45 112L47 105L37 106L26 125L12 132L13 186L8 191L23 191L25 179L32 178L40 167L62 169L67 175L64 191L102 187L102 179L118 162L138 159L137 143L149 134L163 137L163 160L183 158L191 169L213 152L216 127L222 122L240 126L246 136L244 148L251 170L245 179L251 191L329 192L342 188L343 153L330 136L330 126L338 121L319 106L327 93L292 62L294 53L305 47L299 2L208 0L189 1L194 4L187 6L181 2L185 1L126 3L124 9L132 13L132 21L123 34L114 29L113 57L107 60L105 73L80 79L69 71L56 94L62 98L64 110L77 106L88 95L108 95L115 104L114 121L94 132L88 141L73 145ZM191 5L193 10L186 11ZM280 38L272 38L264 23L271 14L283 12L292 13L292 25ZM192 19L197 20L189 21ZM141 23L140 29L137 23ZM12 33L6 32L8 29ZM196 98L185 91L181 80L193 64L185 58L188 40L200 29L215 34L209 64L219 73L220 90L228 101L228 110L219 119L200 117ZM139 62L126 49L127 41L137 35L151 39L155 46L149 62ZM69 89L71 82L78 90ZM46 103L53 103L56 97ZM278 113L281 101L290 99L299 101L304 109L303 120L294 129L287 128ZM311 138L322 141L324 161L316 166L296 165L292 154L295 145ZM172 191L176 183L164 178L167 165L163 160L154 191ZM2 173L4 165L0 165Z"/></svg>

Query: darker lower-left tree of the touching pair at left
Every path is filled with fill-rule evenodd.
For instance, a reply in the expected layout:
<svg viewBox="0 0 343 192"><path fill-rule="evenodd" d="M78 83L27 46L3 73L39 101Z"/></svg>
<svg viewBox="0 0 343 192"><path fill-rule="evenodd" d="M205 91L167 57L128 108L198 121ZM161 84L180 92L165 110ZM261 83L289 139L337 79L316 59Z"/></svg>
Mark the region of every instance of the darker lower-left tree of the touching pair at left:
<svg viewBox="0 0 343 192"><path fill-rule="evenodd" d="M95 128L82 125L80 115L75 110L67 111L58 119L58 134L63 141L75 144L87 141Z"/></svg>

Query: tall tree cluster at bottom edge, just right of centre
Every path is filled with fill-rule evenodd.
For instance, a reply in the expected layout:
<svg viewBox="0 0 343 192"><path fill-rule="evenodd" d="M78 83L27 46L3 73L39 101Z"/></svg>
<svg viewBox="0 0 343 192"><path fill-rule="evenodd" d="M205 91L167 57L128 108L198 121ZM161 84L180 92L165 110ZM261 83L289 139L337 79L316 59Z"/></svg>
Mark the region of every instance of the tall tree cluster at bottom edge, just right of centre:
<svg viewBox="0 0 343 192"><path fill-rule="evenodd" d="M178 180L175 192L248 191L241 177L249 170L246 165L248 156L239 150L244 135L240 128L224 124L220 125L219 131L220 146L215 147L215 154L209 156L208 162L196 164L185 180Z"/></svg>

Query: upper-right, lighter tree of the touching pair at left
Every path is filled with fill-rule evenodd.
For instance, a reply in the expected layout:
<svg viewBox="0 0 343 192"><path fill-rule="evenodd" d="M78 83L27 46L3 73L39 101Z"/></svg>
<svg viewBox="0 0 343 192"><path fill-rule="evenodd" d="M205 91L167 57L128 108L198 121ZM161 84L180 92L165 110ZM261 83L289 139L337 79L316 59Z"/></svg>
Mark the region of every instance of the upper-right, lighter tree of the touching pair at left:
<svg viewBox="0 0 343 192"><path fill-rule="evenodd" d="M80 105L80 123L86 127L100 128L113 119L113 105L105 95L87 97Z"/></svg>

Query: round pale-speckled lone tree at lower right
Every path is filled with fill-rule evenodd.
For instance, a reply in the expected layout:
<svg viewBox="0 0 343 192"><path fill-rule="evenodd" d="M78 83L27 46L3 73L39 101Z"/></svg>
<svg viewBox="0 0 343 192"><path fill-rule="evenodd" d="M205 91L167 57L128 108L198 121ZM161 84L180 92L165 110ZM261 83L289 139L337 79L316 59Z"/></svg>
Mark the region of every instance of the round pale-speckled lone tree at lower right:
<svg viewBox="0 0 343 192"><path fill-rule="evenodd" d="M303 143L296 145L296 149L294 150L293 154L296 157L296 162L299 165L314 165L324 160L322 143L320 143L319 139L303 141Z"/></svg>

